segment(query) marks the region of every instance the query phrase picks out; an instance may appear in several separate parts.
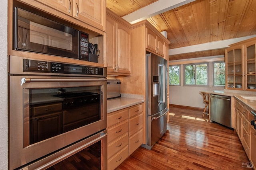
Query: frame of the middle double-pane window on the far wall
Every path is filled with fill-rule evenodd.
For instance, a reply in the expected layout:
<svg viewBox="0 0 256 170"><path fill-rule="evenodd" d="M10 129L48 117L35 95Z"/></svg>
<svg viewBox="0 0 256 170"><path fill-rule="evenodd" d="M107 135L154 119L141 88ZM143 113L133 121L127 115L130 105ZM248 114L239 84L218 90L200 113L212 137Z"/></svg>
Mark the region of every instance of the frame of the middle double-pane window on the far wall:
<svg viewBox="0 0 256 170"><path fill-rule="evenodd" d="M207 81L206 81L206 84L203 85L203 84L200 84L200 85L197 85L196 84L196 72L195 72L195 84L186 84L186 66L190 66L190 65L194 65L195 66L195 71L196 71L196 65L200 65L200 64L206 64L207 66ZM197 87L209 87L209 62L203 62L203 63L190 63L190 64L184 64L183 65L183 86L197 86Z"/></svg>

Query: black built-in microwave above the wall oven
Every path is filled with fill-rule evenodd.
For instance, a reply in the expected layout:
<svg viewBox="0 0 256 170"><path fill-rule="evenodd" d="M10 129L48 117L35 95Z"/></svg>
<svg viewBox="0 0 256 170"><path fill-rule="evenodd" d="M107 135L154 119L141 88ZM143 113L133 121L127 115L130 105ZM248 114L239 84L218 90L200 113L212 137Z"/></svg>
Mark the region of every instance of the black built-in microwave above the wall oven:
<svg viewBox="0 0 256 170"><path fill-rule="evenodd" d="M89 35L54 17L14 8L14 50L89 61ZM67 23L67 22L66 22ZM71 25L71 26L70 26ZM76 25L77 27L77 25Z"/></svg>

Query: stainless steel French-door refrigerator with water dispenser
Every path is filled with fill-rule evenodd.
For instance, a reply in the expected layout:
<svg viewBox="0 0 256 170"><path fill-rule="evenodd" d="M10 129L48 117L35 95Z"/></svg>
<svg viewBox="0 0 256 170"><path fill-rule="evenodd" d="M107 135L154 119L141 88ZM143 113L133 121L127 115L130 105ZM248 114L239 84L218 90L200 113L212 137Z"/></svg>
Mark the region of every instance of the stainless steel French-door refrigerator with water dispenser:
<svg viewBox="0 0 256 170"><path fill-rule="evenodd" d="M152 53L146 55L146 61L147 143L142 147L150 150L167 130L168 61Z"/></svg>

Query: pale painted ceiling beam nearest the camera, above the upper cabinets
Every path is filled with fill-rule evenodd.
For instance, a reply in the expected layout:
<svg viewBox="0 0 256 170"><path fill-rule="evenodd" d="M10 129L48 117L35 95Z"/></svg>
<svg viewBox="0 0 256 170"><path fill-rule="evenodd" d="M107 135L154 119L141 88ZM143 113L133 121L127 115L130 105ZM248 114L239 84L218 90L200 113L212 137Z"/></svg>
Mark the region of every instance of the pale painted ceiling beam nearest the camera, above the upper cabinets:
<svg viewBox="0 0 256 170"><path fill-rule="evenodd" d="M134 24L193 1L195 0L158 0L148 6L123 16L122 18L131 24Z"/></svg>

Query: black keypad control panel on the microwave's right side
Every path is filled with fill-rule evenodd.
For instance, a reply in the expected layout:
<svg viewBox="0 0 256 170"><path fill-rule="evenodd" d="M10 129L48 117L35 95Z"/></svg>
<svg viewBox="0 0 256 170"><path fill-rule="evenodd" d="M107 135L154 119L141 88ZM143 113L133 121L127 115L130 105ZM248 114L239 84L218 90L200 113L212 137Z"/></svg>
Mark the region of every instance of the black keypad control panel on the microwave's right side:
<svg viewBox="0 0 256 170"><path fill-rule="evenodd" d="M80 60L89 61L89 35L80 32Z"/></svg>

